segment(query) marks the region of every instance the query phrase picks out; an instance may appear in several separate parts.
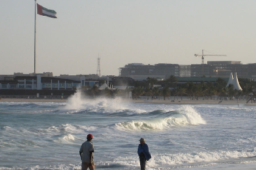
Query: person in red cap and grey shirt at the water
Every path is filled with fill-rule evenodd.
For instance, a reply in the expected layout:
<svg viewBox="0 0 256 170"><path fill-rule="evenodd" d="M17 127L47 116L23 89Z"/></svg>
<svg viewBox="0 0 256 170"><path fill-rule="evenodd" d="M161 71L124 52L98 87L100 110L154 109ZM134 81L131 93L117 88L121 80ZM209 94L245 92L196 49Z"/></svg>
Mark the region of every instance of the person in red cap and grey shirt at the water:
<svg viewBox="0 0 256 170"><path fill-rule="evenodd" d="M93 135L88 134L87 135L87 141L85 141L79 151L81 160L82 160L82 170L90 169L94 170L94 160L93 160L93 152L94 152L94 146L91 142L93 140Z"/></svg>

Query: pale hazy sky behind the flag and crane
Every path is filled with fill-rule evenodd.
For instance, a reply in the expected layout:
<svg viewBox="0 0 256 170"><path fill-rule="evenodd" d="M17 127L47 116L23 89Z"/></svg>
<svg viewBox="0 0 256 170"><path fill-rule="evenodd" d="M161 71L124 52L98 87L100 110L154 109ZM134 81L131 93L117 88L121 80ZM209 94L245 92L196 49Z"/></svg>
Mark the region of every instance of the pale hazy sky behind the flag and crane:
<svg viewBox="0 0 256 170"><path fill-rule="evenodd" d="M119 75L129 63L256 63L255 0L37 0L37 73ZM34 72L34 0L0 1L0 75Z"/></svg>

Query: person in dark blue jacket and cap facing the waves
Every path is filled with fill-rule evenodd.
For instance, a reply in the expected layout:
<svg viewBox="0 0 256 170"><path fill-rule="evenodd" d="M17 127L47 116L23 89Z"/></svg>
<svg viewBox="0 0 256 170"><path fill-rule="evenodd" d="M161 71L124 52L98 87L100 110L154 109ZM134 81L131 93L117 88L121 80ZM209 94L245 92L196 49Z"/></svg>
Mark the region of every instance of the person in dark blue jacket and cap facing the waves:
<svg viewBox="0 0 256 170"><path fill-rule="evenodd" d="M138 155L140 157L140 169L146 169L146 163L151 158L151 154L149 152L148 144L145 143L144 138L140 138L140 144L138 146Z"/></svg>

